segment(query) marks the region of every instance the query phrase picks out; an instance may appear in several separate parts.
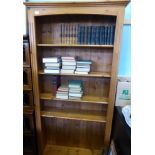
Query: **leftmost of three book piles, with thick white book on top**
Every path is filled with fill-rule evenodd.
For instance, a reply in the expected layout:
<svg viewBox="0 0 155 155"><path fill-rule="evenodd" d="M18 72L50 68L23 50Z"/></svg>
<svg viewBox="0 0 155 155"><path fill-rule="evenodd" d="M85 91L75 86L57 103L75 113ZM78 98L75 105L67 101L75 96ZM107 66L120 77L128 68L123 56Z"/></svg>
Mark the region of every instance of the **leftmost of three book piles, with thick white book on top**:
<svg viewBox="0 0 155 155"><path fill-rule="evenodd" d="M45 73L51 73L51 74L60 73L61 60L59 57L43 58L43 63Z"/></svg>

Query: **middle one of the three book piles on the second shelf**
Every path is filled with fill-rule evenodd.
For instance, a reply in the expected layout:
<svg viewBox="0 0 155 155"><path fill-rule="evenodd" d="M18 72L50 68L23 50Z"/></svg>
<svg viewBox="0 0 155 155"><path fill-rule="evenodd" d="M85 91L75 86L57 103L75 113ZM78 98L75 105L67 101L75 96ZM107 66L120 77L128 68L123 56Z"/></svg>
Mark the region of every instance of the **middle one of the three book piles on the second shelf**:
<svg viewBox="0 0 155 155"><path fill-rule="evenodd" d="M74 74L74 71L76 68L75 57L61 57L61 59L62 59L61 73L63 73L63 74Z"/></svg>

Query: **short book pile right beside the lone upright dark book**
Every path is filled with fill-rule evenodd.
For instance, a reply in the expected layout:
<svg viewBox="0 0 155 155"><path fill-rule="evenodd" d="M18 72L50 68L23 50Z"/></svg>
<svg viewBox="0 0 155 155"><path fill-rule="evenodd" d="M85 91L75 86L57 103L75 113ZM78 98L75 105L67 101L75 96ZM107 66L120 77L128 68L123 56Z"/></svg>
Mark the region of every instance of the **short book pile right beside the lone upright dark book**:
<svg viewBox="0 0 155 155"><path fill-rule="evenodd" d="M68 99L68 85L61 85L56 93L56 98L57 99L63 99L63 100L67 100Z"/></svg>

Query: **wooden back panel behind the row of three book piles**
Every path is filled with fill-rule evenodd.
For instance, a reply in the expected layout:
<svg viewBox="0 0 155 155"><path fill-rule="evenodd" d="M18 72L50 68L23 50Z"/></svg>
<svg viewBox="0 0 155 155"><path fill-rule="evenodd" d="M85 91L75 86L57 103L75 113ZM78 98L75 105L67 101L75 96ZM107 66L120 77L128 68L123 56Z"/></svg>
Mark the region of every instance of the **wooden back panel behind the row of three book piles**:
<svg viewBox="0 0 155 155"><path fill-rule="evenodd" d="M42 58L76 56L79 60L91 60L92 72L111 72L113 49L108 48L39 48L38 66L43 69Z"/></svg>

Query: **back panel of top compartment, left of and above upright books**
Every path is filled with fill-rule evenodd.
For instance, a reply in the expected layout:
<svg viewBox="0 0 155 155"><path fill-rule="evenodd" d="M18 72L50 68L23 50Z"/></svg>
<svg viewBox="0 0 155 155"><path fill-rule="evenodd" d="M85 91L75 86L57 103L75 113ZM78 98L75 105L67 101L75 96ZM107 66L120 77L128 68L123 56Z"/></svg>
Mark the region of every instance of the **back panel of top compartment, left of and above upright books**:
<svg viewBox="0 0 155 155"><path fill-rule="evenodd" d="M37 43L62 43L61 31L66 31L66 34L72 31L74 27L80 25L84 26L103 26L112 25L116 23L115 16L101 16L101 15L51 15L36 17L36 32ZM68 25L68 26L67 26ZM73 27L73 29L74 29ZM76 28L75 28L76 29ZM72 33L71 33L72 35ZM67 39L68 36L65 36ZM64 42L67 43L68 41ZM76 42L77 43L77 42Z"/></svg>

